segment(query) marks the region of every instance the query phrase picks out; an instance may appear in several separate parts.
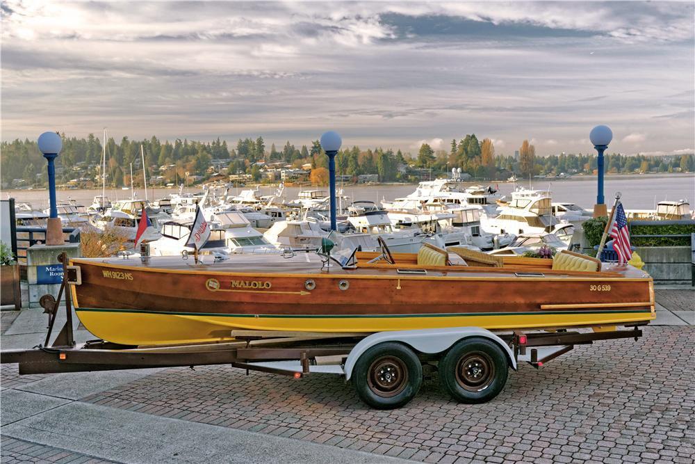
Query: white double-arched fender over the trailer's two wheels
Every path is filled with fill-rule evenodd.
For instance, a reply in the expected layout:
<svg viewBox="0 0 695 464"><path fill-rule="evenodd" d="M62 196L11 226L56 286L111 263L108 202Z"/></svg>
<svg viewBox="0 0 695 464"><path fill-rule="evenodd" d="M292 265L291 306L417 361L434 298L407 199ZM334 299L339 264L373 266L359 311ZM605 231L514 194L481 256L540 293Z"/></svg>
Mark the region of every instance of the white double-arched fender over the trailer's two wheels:
<svg viewBox="0 0 695 464"><path fill-rule="evenodd" d="M464 338L482 337L490 339L500 346L502 351L507 353L509 365L516 370L516 360L514 351L497 335L489 330L480 327L452 327L452 328L432 328L416 330L395 330L393 332L379 332L369 335L354 346L345 361L345 380L350 380L352 369L359 357L372 346L383 342L401 342L411 346L412 349L420 353L434 354L441 353L449 349L453 344Z"/></svg>

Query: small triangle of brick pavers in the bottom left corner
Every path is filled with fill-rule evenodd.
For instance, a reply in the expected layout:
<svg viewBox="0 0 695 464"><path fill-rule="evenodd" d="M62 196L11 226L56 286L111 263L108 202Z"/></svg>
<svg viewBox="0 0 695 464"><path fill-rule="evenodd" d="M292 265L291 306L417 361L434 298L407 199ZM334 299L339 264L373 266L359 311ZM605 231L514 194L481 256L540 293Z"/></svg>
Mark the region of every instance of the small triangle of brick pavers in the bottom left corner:
<svg viewBox="0 0 695 464"><path fill-rule="evenodd" d="M15 463L57 463L57 464L100 464L113 463L103 459L85 456L65 449L37 445L17 440L7 435L0 438L0 461L3 464Z"/></svg>

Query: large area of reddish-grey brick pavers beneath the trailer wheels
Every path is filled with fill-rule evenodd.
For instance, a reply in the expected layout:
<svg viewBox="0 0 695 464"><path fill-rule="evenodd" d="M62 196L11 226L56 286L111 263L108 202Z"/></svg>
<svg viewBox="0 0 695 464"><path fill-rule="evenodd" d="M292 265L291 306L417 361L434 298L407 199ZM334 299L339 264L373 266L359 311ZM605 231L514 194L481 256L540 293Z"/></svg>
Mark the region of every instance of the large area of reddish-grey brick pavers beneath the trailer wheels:
<svg viewBox="0 0 695 464"><path fill-rule="evenodd" d="M644 331L637 342L576 346L538 371L523 365L480 405L426 381L407 406L370 410L338 377L225 366L163 369L83 401L423 462L690 464L695 330Z"/></svg>

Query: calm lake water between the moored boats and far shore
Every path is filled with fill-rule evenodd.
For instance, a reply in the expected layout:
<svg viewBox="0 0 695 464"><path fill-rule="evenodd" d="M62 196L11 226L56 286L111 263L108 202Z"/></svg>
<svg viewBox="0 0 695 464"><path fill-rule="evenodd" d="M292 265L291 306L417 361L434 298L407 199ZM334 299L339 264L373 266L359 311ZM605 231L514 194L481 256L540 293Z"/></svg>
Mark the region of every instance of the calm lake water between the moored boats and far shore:
<svg viewBox="0 0 695 464"><path fill-rule="evenodd" d="M474 184L496 184L500 193L507 194L514 189L514 184L507 182L466 182L466 185ZM529 182L516 184L525 187ZM339 185L338 185L339 186ZM596 176L580 176L569 180L554 180L552 182L541 181L532 182L534 189L550 189L553 193L553 200L557 202L573 202L586 209L593 209L596 203ZM251 187L240 187L231 189L231 194L236 194L243 189ZM288 199L297 197L297 192L306 187L287 187L285 194ZM327 190L327 187L322 189ZM393 200L393 198L403 197L414 191L414 185L354 185L345 186L345 195L354 200L372 200L380 202L382 199ZM199 189L188 189L190 192ZM274 191L274 188L261 187L261 194L267 195ZM663 174L663 175L610 175L605 178L605 202L611 205L614 194L621 192L622 201L626 209L653 209L656 202L661 200L692 200L695 197L695 175L686 174ZM144 189L136 189L137 198L145 198ZM149 199L163 198L170 193L176 193L175 189L148 189ZM101 195L101 189L95 190L59 190L58 202L68 199L76 200L78 203L89 206L95 195ZM115 199L131 198L129 190L107 189L106 195ZM15 198L17 202L31 203L36 209L48 207L48 191L45 190L8 190L3 191L3 198Z"/></svg>

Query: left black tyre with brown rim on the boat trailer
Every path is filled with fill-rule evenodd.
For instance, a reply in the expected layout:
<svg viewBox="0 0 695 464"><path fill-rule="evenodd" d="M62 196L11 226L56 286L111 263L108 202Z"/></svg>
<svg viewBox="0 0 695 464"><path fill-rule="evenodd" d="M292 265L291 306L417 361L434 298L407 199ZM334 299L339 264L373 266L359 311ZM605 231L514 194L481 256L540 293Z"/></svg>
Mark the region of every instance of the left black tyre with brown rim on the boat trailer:
<svg viewBox="0 0 695 464"><path fill-rule="evenodd" d="M377 409L393 409L413 399L423 383L423 365L407 346L384 342L357 360L352 376L359 399Z"/></svg>

